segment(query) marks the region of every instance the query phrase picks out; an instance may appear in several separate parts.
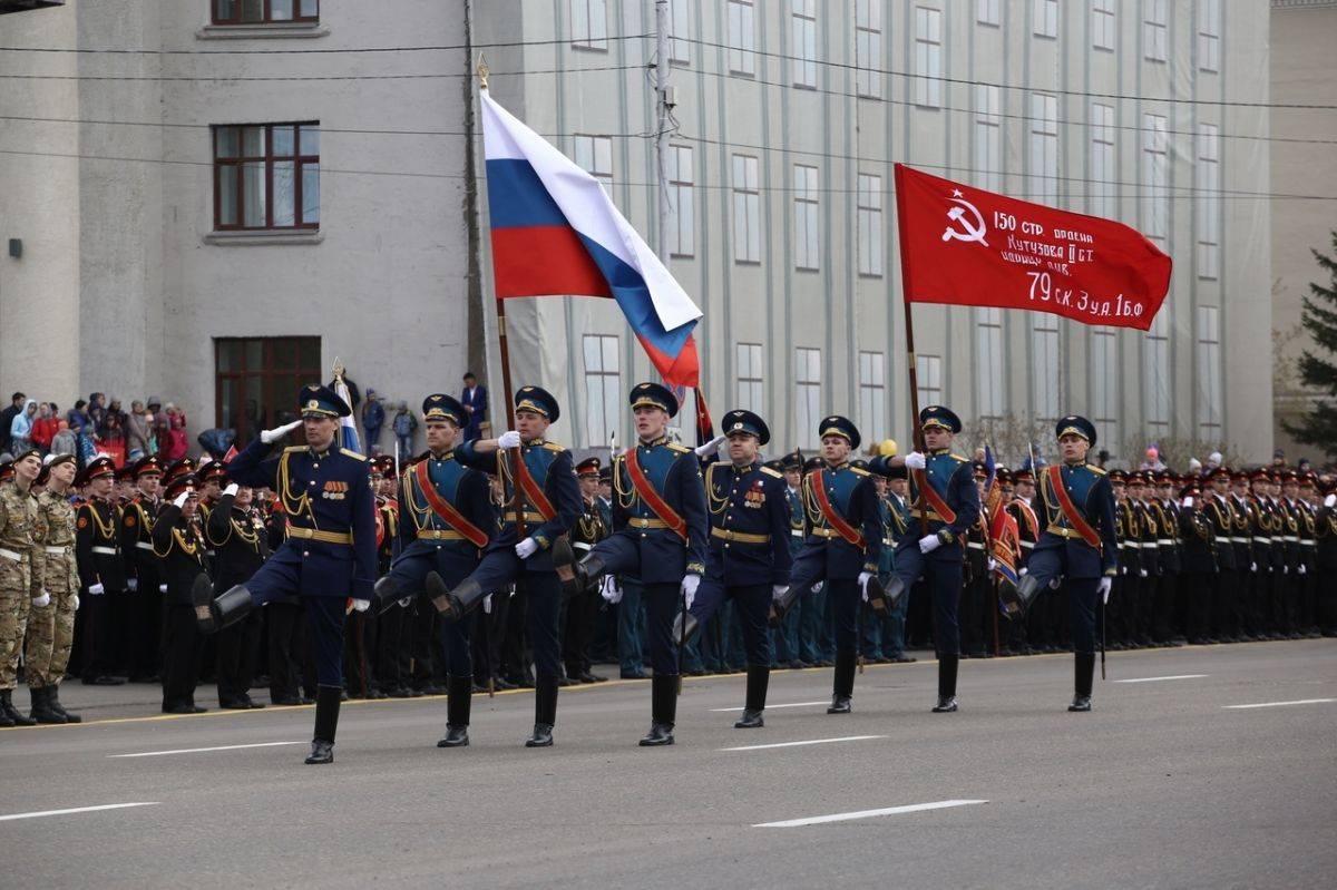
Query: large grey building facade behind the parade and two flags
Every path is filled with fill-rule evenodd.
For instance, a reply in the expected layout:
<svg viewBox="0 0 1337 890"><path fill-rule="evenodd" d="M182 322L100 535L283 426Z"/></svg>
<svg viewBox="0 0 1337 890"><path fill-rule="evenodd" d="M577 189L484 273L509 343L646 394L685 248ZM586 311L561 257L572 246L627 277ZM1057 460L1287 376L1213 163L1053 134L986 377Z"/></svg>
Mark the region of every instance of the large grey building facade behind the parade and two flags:
<svg viewBox="0 0 1337 890"><path fill-rule="evenodd" d="M219 4L238 16L257 5L214 0L214 13ZM475 202L485 190L472 178L481 139L465 76L477 51L493 98L598 176L658 243L652 0L401 0L393 16L373 4L277 5L294 16L310 5L316 19L211 23L205 0L75 4L41 13L49 24L33 17L23 45L189 52L0 57L0 73L190 78L36 80L0 96L4 115L41 108L86 122L5 120L0 136L0 148L43 152L5 155L4 235L49 241L41 262L28 251L0 265L7 386L124 393L151 381L230 425L249 410L245 388L259 388L258 405L267 392L237 350L273 361L274 346L221 338L282 334L318 337L318 363L265 380L328 376L338 355L362 386L414 402L455 386L468 365L487 369L500 409L487 203ZM890 188L892 162L905 160L1122 219L1175 261L1146 334L917 307L921 401L992 418L973 424L976 438L987 426L1029 432L1084 413L1124 461L1147 440L1229 445L1255 460L1270 452L1271 355L1258 342L1271 327L1263 4L670 0L668 9L664 241L671 271L705 311L703 390L717 416L759 410L775 452L814 446L828 413L852 416L865 440L906 440ZM472 52L253 52L465 44ZM205 57L221 47L249 52ZM156 126L87 123L130 118ZM316 123L318 155L301 154L301 130L230 130ZM249 154L246 139L269 154ZM293 154L275 155L275 142ZM49 156L59 152L152 162ZM308 179L298 170L312 158L318 174ZM257 203L262 225L247 226L258 182L246 176L266 176L274 195L279 168L282 207ZM314 225L302 216L306 183L318 183ZM44 202L59 212L41 211ZM43 293L57 294L80 331L75 367L44 369L45 378L28 374L16 345L59 341L32 318L16 333L4 323ZM652 372L616 307L555 297L512 301L507 314L516 382L539 382L564 405L554 437L580 450L626 442L627 388ZM314 361L310 341L279 349ZM238 381L234 355L247 362Z"/></svg>

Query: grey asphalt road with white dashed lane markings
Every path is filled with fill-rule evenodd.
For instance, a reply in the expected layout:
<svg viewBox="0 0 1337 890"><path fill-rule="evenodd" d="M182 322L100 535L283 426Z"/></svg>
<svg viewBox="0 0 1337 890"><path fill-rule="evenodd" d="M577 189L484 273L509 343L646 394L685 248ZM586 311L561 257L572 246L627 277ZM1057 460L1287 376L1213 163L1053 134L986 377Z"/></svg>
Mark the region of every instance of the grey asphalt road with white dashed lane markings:
<svg viewBox="0 0 1337 890"><path fill-rule="evenodd" d="M829 671L781 672L755 731L717 710L742 676L689 680L668 748L635 744L646 682L563 690L550 750L529 694L476 698L451 751L444 699L349 703L328 767L309 707L100 718L132 687L71 686L94 722L0 730L0 887L1333 886L1337 641L1110 668L1084 715L1071 656L963 663L955 715L932 661L868 668L849 716ZM1179 679L1114 682L1146 678ZM729 750L789 742L821 743ZM223 746L265 747L190 751Z"/></svg>

